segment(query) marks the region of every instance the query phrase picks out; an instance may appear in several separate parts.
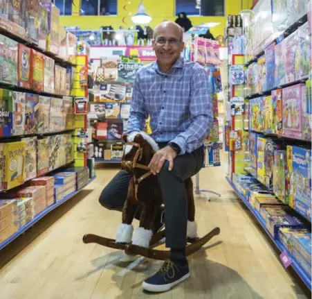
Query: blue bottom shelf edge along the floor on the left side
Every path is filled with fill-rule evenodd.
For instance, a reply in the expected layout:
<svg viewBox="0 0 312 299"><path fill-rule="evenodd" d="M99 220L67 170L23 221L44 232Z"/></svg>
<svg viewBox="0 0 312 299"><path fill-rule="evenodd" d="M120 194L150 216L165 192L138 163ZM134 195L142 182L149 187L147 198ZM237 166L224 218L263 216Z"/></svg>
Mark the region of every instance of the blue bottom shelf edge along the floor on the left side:
<svg viewBox="0 0 312 299"><path fill-rule="evenodd" d="M93 176L93 178L91 178L89 180L89 182L84 187L89 185L93 180L95 180L95 178L96 178L96 176ZM84 187L82 189L84 189ZM73 196L75 196L76 194L78 194L82 189L73 191L73 193L68 194L68 196L62 198L62 200L59 200L57 203L53 203L53 205L51 205L50 207L47 207L44 211L42 211L41 213L37 214L32 221L26 223L26 225L22 226L17 232L15 232L15 234L12 234L12 236L10 238L8 238L8 239L6 239L6 241L2 242L0 244L0 250L2 248L6 247L8 244L10 244L17 237L19 237L19 235L21 235L24 232L26 232L26 230L28 230L28 228L31 228L35 223L37 223L40 219L42 219L44 216L46 216L46 214L50 213L56 207L59 207L59 205L62 205L62 203L65 203L65 201L67 201L68 199L70 199Z"/></svg>

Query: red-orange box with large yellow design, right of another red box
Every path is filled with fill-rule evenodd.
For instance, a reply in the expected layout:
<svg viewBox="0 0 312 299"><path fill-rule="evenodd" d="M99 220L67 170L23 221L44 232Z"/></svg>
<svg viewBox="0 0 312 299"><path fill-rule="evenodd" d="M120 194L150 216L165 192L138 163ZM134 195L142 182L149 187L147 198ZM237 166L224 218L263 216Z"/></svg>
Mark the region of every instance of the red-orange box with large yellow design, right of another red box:
<svg viewBox="0 0 312 299"><path fill-rule="evenodd" d="M31 50L31 87L36 92L44 91L44 58L44 54Z"/></svg>

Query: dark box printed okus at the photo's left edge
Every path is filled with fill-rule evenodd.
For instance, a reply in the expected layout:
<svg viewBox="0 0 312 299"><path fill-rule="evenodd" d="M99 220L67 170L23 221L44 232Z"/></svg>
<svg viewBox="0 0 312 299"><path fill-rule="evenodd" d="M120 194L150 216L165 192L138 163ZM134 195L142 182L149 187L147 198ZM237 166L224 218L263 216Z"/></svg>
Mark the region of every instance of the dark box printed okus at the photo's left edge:
<svg viewBox="0 0 312 299"><path fill-rule="evenodd" d="M0 89L0 137L12 136L12 92Z"/></svg>

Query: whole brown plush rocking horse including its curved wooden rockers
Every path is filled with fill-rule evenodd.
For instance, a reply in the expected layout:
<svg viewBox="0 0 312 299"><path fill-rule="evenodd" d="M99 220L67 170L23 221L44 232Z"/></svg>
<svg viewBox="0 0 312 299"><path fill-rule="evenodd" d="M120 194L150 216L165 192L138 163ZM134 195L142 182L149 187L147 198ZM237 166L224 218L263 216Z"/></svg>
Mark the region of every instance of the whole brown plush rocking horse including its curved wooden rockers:
<svg viewBox="0 0 312 299"><path fill-rule="evenodd" d="M144 132L135 132L125 137L125 151L122 155L122 169L132 174L128 196L122 210L122 223L119 225L116 240L107 239L95 234L86 234L83 237L85 244L96 243L110 248L125 250L128 255L142 255L152 259L165 260L169 258L169 250L154 249L159 241L165 237L165 230L153 235L152 227L156 210L163 205L158 179L149 170L149 162L154 152L158 150L156 142ZM184 182L187 193L188 221L186 255L191 255L206 244L212 237L220 233L214 228L204 237L197 237L195 221L195 205L193 196L192 178ZM134 228L132 222L138 205L143 205L140 215L140 225Z"/></svg>

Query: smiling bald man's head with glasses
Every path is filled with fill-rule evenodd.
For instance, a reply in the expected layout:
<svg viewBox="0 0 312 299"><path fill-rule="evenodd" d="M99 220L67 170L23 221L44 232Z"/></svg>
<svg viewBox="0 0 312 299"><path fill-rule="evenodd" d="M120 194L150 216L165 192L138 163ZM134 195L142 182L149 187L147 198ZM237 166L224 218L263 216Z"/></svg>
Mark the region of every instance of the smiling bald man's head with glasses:
<svg viewBox="0 0 312 299"><path fill-rule="evenodd" d="M174 65L184 48L182 39L181 31L176 26L168 25L157 29L153 49L160 64Z"/></svg>

